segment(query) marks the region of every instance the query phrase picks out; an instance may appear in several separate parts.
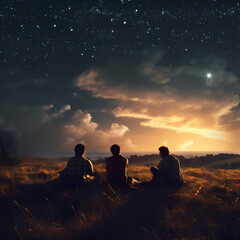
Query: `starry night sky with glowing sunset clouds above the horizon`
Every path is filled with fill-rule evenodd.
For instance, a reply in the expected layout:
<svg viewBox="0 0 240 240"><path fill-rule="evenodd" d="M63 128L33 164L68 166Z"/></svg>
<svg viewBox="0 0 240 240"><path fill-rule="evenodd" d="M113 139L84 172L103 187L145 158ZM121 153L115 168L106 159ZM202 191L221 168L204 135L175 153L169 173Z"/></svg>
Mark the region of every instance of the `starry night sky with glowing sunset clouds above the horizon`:
<svg viewBox="0 0 240 240"><path fill-rule="evenodd" d="M21 151L238 151L240 1L3 0L0 124Z"/></svg>

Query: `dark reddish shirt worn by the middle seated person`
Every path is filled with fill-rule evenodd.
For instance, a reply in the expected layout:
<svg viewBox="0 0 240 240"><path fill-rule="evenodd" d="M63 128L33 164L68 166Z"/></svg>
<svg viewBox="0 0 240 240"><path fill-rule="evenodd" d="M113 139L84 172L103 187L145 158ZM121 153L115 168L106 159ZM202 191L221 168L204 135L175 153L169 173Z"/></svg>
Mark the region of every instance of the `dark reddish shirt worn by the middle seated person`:
<svg viewBox="0 0 240 240"><path fill-rule="evenodd" d="M126 184L128 159L122 155L117 155L107 158L106 162L108 182L116 186Z"/></svg>

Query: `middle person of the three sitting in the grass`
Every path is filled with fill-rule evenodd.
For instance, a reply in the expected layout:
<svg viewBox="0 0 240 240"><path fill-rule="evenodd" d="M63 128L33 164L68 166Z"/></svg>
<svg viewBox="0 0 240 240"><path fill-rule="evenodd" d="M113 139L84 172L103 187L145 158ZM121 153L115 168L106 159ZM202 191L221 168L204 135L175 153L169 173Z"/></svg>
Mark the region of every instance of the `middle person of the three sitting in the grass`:
<svg viewBox="0 0 240 240"><path fill-rule="evenodd" d="M119 145L112 145L110 150L113 156L106 160L107 181L113 188L126 189L131 181L131 178L127 177L128 159L120 154Z"/></svg>

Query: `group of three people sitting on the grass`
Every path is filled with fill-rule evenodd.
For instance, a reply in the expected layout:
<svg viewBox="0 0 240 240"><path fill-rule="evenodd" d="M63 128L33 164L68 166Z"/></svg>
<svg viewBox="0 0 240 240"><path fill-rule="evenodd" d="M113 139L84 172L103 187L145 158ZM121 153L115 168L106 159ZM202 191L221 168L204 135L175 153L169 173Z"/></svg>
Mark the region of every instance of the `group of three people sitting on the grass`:
<svg viewBox="0 0 240 240"><path fill-rule="evenodd" d="M128 159L121 155L119 145L112 145L110 151L112 156L106 159L106 179L113 188L124 189L134 182L179 188L184 183L179 160L165 146L159 148L161 161L158 167L150 168L153 177L148 182L134 181L127 175ZM60 179L67 185L78 186L94 178L93 164L84 157L85 153L85 146L77 144L75 157L70 158L66 168L60 172Z"/></svg>

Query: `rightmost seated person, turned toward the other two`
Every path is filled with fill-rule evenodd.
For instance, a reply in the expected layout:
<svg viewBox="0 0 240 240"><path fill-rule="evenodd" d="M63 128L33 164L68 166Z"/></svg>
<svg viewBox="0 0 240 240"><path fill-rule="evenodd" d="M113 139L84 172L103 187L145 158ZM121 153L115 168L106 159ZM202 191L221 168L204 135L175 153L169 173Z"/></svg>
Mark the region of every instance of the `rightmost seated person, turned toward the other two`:
<svg viewBox="0 0 240 240"><path fill-rule="evenodd" d="M151 167L152 183L179 188L184 184L179 160L169 154L167 147L160 147L159 155L162 158L158 167Z"/></svg>

